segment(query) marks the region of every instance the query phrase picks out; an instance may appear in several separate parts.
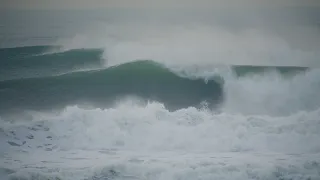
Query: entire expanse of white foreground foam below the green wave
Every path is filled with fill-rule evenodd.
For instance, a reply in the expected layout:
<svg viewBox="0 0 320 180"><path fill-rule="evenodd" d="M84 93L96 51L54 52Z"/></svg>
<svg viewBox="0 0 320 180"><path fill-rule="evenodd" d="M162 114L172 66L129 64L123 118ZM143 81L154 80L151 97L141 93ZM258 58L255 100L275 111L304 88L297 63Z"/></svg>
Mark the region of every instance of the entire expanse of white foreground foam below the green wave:
<svg viewBox="0 0 320 180"><path fill-rule="evenodd" d="M307 179L319 173L320 110L245 116L127 101L32 116L3 127L0 162L14 171L11 177Z"/></svg>

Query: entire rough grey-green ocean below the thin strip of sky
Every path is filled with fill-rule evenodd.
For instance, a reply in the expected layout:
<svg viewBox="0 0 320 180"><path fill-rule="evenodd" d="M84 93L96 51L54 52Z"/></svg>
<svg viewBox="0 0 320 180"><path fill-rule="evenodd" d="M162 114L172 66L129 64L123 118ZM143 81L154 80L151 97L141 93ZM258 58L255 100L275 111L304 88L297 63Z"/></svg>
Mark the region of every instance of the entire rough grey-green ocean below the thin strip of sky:
<svg viewBox="0 0 320 180"><path fill-rule="evenodd" d="M297 39L244 22L2 15L0 179L320 179L320 51Z"/></svg>

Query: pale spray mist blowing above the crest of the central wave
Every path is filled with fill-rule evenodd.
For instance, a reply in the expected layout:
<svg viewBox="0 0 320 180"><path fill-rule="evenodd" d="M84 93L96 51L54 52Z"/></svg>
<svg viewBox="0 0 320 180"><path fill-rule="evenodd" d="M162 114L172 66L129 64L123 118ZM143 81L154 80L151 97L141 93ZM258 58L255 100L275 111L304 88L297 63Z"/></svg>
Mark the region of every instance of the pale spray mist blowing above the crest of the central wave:
<svg viewBox="0 0 320 180"><path fill-rule="evenodd" d="M318 30L313 26L281 26L282 31L287 29L288 34L297 36L283 37L272 28L259 25L234 31L215 22L125 22L99 24L98 29L77 34L62 44L65 50L102 48L109 65L152 59L171 64L317 66L317 44L295 41L308 35L312 36L310 39L319 39ZM292 33L291 28L301 28L302 32Z"/></svg>

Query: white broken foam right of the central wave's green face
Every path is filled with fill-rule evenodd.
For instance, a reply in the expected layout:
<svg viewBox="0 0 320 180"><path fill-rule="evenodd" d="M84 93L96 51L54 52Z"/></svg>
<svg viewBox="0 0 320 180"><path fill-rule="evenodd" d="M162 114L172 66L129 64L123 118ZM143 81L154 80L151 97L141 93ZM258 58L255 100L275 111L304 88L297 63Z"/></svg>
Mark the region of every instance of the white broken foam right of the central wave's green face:
<svg viewBox="0 0 320 180"><path fill-rule="evenodd" d="M231 77L231 78L230 78ZM286 77L266 72L225 80L224 112L286 116L320 107L320 70Z"/></svg>

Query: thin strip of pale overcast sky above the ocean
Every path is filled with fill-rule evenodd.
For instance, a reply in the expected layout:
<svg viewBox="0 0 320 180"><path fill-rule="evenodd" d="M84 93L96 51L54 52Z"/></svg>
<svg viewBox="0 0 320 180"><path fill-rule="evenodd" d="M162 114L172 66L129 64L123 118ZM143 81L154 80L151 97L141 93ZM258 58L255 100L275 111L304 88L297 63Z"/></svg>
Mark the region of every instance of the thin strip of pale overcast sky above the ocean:
<svg viewBox="0 0 320 180"><path fill-rule="evenodd" d="M4 9L320 7L320 0L0 0Z"/></svg>

